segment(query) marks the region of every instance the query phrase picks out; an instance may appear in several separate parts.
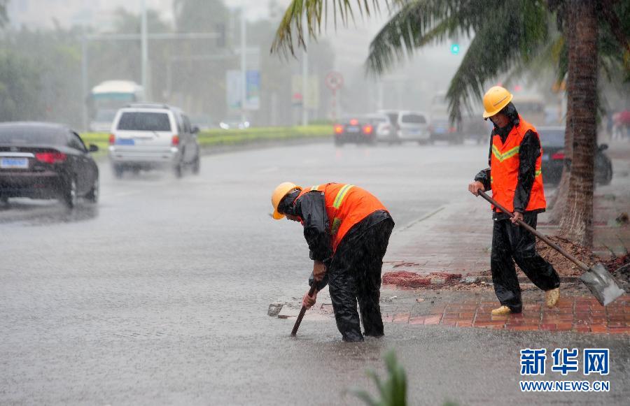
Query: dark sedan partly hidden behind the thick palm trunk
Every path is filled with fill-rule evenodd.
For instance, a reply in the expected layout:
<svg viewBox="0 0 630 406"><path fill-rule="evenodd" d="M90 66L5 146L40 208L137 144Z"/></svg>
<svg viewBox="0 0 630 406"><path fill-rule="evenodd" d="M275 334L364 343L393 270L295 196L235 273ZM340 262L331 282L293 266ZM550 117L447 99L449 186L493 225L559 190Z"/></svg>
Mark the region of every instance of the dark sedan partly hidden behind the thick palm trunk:
<svg viewBox="0 0 630 406"><path fill-rule="evenodd" d="M564 127L540 127L542 144L542 179L546 184L558 184L564 165ZM595 152L595 183L610 184L612 163L604 154L608 145L601 144Z"/></svg>

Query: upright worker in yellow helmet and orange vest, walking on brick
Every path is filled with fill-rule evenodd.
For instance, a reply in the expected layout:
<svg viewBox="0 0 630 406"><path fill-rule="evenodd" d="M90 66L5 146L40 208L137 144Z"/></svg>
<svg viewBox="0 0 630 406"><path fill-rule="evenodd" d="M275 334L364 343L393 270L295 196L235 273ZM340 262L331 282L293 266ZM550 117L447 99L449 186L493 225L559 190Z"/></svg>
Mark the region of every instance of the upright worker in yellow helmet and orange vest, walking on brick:
<svg viewBox="0 0 630 406"><path fill-rule="evenodd" d="M492 314L520 313L521 289L514 261L538 288L545 302L554 307L560 296L560 278L553 266L536 252L535 237L516 224L520 219L536 227L538 213L547 206L542 188L542 147L533 125L526 122L512 103L507 89L495 86L484 95L484 119L494 124L489 153L490 168L477 173L468 190L492 190L492 197L514 217L493 207L491 271L500 307Z"/></svg>

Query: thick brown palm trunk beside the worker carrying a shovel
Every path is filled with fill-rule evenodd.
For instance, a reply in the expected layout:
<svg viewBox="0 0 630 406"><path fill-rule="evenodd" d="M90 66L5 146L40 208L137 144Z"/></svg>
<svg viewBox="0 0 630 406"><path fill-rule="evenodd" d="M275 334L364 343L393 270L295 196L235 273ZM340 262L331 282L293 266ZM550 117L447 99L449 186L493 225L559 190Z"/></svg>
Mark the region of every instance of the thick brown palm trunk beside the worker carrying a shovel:
<svg viewBox="0 0 630 406"><path fill-rule="evenodd" d="M593 192L597 135L597 14L596 1L570 0L575 13L575 52L570 55L569 77L573 87L568 93L573 107L573 160L569 177L566 209L560 231L581 245L593 245Z"/></svg>

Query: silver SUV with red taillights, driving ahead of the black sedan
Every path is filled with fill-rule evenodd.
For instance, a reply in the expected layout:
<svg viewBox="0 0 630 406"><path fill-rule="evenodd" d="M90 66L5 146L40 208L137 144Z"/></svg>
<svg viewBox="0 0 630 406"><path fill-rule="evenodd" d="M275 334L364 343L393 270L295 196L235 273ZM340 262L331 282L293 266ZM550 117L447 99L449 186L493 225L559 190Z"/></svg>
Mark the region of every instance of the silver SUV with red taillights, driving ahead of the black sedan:
<svg viewBox="0 0 630 406"><path fill-rule="evenodd" d="M116 177L125 171L170 168L199 173L199 129L179 108L135 103L118 110L109 136L109 159Z"/></svg>

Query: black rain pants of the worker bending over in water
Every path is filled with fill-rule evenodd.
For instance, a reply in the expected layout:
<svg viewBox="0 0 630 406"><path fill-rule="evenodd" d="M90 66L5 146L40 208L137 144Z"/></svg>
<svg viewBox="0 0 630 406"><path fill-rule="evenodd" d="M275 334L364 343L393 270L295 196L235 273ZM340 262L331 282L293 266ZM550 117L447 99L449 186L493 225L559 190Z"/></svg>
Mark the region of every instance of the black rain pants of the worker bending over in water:
<svg viewBox="0 0 630 406"><path fill-rule="evenodd" d="M356 305L365 335L384 335L381 319L381 268L394 222L384 219L364 233L351 231L339 243L328 268L328 289L337 328L344 341L363 341Z"/></svg>

